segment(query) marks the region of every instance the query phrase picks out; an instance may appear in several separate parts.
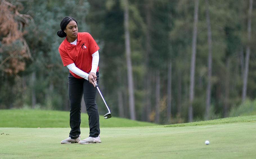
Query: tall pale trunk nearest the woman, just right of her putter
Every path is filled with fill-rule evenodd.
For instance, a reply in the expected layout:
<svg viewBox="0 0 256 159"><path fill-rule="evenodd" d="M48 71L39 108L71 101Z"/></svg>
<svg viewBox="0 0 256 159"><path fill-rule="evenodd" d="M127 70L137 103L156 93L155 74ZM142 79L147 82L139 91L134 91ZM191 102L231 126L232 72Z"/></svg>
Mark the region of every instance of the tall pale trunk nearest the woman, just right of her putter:
<svg viewBox="0 0 256 159"><path fill-rule="evenodd" d="M129 33L129 12L128 12L128 0L124 0L124 28L125 28L125 52L127 62L127 78L128 78L128 90L129 90L129 109L131 120L136 120L135 104L134 104L134 90L133 90L133 69L131 62L131 46L130 46L130 33Z"/></svg>

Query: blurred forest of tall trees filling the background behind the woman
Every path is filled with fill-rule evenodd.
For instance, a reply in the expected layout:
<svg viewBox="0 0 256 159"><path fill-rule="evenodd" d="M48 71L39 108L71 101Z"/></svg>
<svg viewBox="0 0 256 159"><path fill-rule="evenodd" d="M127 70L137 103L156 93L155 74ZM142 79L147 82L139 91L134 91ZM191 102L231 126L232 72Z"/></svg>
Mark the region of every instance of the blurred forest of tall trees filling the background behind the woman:
<svg viewBox="0 0 256 159"><path fill-rule="evenodd" d="M255 5L1 0L0 109L69 111L57 31L71 16L100 47L99 87L113 116L170 124L256 114ZM97 104L105 114L99 95Z"/></svg>

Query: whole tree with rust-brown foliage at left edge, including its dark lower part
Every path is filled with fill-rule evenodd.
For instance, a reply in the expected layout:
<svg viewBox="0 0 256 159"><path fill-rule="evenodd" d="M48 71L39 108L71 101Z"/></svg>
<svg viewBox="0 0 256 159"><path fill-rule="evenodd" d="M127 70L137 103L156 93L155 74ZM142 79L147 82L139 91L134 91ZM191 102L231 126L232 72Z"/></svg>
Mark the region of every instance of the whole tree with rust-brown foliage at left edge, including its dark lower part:
<svg viewBox="0 0 256 159"><path fill-rule="evenodd" d="M12 108L13 99L21 98L15 83L22 82L20 75L32 60L24 28L33 23L33 18L20 13L24 7L19 1L1 0L0 8L0 108Z"/></svg>

